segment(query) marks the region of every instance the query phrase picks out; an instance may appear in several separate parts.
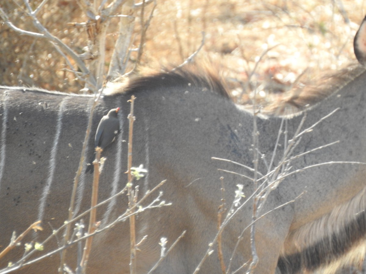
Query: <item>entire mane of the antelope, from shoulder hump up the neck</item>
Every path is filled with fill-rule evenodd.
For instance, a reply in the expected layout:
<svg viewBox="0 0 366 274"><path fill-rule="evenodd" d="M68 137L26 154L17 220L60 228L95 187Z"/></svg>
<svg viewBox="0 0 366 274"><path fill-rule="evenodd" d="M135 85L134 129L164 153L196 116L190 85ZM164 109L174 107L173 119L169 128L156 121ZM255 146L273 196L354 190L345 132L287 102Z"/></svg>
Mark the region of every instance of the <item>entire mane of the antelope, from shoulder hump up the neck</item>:
<svg viewBox="0 0 366 274"><path fill-rule="evenodd" d="M337 72L328 73L309 83L300 83L292 90L283 94L269 95L268 102L261 107L261 114L266 116L291 117L302 113L303 110L313 107L330 95L340 91L344 86L366 71L359 64L351 64ZM224 98L231 99L228 89L212 66L190 65L183 68L155 73L149 76L137 77L127 85L117 87L111 94L131 93L140 90L199 88L216 93ZM253 112L253 106L243 105L240 109Z"/></svg>

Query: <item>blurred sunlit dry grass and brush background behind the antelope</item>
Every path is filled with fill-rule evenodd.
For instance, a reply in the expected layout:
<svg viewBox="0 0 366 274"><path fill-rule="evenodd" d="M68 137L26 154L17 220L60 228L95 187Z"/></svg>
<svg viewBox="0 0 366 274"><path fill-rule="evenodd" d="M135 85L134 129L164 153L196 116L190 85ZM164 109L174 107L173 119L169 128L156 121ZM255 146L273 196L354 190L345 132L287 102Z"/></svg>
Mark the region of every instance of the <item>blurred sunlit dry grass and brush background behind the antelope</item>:
<svg viewBox="0 0 366 274"><path fill-rule="evenodd" d="M199 47L205 31L205 45L196 60L219 64L238 94L240 82L248 80L259 56L278 45L264 56L251 78L256 85L270 85L263 89L264 97L267 91L288 90L307 68L305 80L354 60L353 36L365 14L361 0L158 0L157 4L147 31L143 66L157 69L180 64ZM0 6L16 26L34 30L22 5L0 0ZM49 1L40 14L48 30L82 53L87 42L85 31L67 26L68 22L86 21L75 0ZM106 71L116 36L117 19L113 20L107 38ZM136 24L136 47L138 31ZM5 25L0 25L0 37L0 84L72 92L83 87L63 69L63 57L48 42L19 36ZM132 55L131 65L134 58ZM243 99L248 98L245 95Z"/></svg>

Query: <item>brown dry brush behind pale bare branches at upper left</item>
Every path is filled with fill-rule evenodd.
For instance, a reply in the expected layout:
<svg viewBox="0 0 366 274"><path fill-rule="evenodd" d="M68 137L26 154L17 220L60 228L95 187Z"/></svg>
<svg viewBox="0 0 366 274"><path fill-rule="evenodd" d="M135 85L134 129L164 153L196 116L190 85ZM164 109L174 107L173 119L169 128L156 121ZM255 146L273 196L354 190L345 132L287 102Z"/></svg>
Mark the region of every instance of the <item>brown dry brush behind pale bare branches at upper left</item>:
<svg viewBox="0 0 366 274"><path fill-rule="evenodd" d="M12 22L19 28L37 31L27 16L26 7L17 1L0 1ZM36 7L41 1L32 1ZM38 18L51 33L81 53L85 33L78 28L66 26L73 22L80 12L75 1L49 1L38 14ZM79 18L79 22L82 18ZM19 35L4 24L1 26L0 82L3 85L36 85L49 90L68 91L82 87L73 73L64 70L65 60L45 39Z"/></svg>

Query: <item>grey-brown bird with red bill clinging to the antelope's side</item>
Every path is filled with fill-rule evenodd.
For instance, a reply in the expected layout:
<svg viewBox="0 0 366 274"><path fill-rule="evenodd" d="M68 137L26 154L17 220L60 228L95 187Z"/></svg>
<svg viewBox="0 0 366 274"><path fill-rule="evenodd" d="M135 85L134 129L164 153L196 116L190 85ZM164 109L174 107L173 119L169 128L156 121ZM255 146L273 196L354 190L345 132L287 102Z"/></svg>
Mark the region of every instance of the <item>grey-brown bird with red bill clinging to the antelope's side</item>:
<svg viewBox="0 0 366 274"><path fill-rule="evenodd" d="M119 111L119 107L116 109L111 109L108 111L108 114L103 116L100 119L97 132L95 134L94 139L94 149L99 146L101 149L105 149L108 145L110 145L116 138L116 135L119 133L119 120L117 117ZM94 165L93 161L95 159L96 153L93 153L90 162L87 164L87 168L85 173L88 171L93 172Z"/></svg>

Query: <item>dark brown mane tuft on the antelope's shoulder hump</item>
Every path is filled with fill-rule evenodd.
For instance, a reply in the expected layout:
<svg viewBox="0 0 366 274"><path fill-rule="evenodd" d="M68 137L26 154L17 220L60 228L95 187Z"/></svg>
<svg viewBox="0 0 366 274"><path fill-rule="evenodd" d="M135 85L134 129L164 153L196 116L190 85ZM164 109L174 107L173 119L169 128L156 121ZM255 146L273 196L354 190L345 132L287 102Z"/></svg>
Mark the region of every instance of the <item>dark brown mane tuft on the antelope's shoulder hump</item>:
<svg viewBox="0 0 366 274"><path fill-rule="evenodd" d="M195 87L209 90L228 99L230 98L227 88L225 88L217 73L197 66L183 67L173 71L133 79L124 88L124 92L130 93L146 89L154 90L161 89L162 87Z"/></svg>

